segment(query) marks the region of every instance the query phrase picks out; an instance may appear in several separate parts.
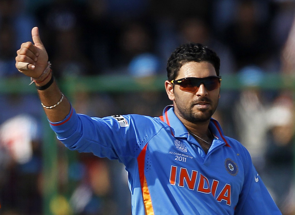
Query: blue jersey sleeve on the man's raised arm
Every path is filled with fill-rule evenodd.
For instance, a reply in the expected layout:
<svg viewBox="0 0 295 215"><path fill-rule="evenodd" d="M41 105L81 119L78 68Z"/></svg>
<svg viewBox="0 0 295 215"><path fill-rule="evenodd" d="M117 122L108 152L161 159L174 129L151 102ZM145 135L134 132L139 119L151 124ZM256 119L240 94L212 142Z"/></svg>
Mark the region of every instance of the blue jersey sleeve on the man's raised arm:
<svg viewBox="0 0 295 215"><path fill-rule="evenodd" d="M136 157L141 146L132 115L114 115L104 118L77 114L74 108L63 121L50 122L57 138L71 150L92 152L99 157L118 159L126 163L128 157Z"/></svg>

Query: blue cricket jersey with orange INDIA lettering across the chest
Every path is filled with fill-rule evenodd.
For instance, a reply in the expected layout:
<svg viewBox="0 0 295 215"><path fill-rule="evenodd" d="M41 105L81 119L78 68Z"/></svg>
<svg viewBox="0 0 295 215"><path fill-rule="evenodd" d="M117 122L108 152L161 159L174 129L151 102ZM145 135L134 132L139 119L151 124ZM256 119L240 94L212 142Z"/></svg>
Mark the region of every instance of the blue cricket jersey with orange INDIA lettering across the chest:
<svg viewBox="0 0 295 215"><path fill-rule="evenodd" d="M98 118L71 108L63 121L50 124L69 149L125 165L134 215L281 214L246 148L224 136L214 119L207 154L173 106L160 117Z"/></svg>

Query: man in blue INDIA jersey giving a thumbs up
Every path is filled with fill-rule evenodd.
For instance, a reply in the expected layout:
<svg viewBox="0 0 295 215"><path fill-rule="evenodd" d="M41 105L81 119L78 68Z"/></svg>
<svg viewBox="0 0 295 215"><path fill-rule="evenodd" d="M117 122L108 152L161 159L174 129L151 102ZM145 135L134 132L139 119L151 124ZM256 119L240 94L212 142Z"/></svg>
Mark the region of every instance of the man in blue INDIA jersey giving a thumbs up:
<svg viewBox="0 0 295 215"><path fill-rule="evenodd" d="M76 114L52 78L38 28L17 51L51 128L71 150L118 159L128 171L132 214L281 214L248 151L211 118L220 97L219 58L183 44L168 60L163 116Z"/></svg>

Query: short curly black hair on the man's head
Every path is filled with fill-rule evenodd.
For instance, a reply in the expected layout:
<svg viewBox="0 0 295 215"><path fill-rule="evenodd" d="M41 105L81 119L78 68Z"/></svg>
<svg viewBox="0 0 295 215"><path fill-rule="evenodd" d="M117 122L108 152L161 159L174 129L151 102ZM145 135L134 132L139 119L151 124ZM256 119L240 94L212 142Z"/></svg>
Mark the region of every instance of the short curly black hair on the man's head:
<svg viewBox="0 0 295 215"><path fill-rule="evenodd" d="M191 61L211 63L216 75L219 76L220 59L213 50L200 43L185 43L177 47L168 59L166 68L168 80L174 80L180 67Z"/></svg>

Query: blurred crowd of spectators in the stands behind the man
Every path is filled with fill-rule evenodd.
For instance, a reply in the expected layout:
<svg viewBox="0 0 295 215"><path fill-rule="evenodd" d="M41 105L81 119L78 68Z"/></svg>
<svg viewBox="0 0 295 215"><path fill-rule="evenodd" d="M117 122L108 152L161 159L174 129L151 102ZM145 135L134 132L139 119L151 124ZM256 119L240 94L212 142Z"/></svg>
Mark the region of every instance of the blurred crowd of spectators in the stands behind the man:
<svg viewBox="0 0 295 215"><path fill-rule="evenodd" d="M149 80L165 76L166 61L179 44L205 44L220 56L221 76L235 76L241 86L221 90L214 118L249 150L283 215L291 215L294 89L260 86L271 74L285 82L295 77L294 13L293 0L0 0L0 78L29 84L14 58L21 43L31 41L34 26L57 80L100 75ZM80 90L70 100L78 113L99 117L160 116L171 104L164 84L162 91ZM69 151L58 141L51 175L56 193L45 202L52 178L44 175L48 127L37 93L0 91L0 101L0 214L131 214L124 167Z"/></svg>

